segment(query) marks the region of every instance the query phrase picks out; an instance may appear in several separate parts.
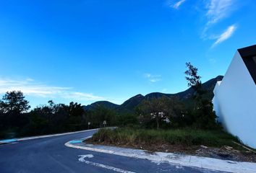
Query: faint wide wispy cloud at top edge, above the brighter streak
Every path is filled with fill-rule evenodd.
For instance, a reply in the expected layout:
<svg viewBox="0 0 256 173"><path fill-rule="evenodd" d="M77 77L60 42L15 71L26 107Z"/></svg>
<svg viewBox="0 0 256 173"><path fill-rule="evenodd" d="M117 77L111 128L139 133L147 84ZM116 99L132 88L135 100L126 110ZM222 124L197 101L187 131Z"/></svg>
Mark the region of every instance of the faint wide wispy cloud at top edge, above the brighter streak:
<svg viewBox="0 0 256 173"><path fill-rule="evenodd" d="M233 5L234 0L210 0L206 4L208 25L214 24L229 16Z"/></svg>

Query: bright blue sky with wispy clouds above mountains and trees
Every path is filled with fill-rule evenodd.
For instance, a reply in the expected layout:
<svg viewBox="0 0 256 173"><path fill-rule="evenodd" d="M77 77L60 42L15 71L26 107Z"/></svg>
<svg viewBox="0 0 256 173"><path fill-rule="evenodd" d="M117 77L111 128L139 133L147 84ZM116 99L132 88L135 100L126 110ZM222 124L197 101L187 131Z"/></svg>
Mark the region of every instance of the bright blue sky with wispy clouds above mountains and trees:
<svg viewBox="0 0 256 173"><path fill-rule="evenodd" d="M237 48L256 42L254 0L0 1L0 94L30 105L187 89L223 75Z"/></svg>

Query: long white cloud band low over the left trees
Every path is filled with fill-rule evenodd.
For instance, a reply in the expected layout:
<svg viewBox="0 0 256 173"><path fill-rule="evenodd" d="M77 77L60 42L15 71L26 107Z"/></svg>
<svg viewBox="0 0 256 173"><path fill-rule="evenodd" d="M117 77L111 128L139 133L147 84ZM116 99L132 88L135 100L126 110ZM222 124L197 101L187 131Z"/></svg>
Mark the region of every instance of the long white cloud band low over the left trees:
<svg viewBox="0 0 256 173"><path fill-rule="evenodd" d="M104 99L103 97L95 96L94 94L76 92L71 87L48 86L46 84L40 84L33 79L0 79L0 94L14 90L21 91L25 95L32 97L63 98L81 101L96 101Z"/></svg>

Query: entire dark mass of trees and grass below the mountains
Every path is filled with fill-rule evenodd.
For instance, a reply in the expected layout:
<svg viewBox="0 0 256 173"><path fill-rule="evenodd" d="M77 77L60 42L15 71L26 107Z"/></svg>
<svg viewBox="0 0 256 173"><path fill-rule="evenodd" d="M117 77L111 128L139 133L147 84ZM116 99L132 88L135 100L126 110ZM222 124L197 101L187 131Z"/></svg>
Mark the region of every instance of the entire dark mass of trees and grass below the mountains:
<svg viewBox="0 0 256 173"><path fill-rule="evenodd" d="M239 139L224 132L218 122L210 93L202 88L198 69L191 63L186 66L185 78L194 94L186 100L148 97L130 112L101 105L85 109L77 102L64 105L52 100L30 109L22 92L7 92L0 100L0 138L118 126L115 130L99 130L87 142L149 151L195 152L200 146L229 146L243 151L237 144ZM255 155L253 158L256 160Z"/></svg>

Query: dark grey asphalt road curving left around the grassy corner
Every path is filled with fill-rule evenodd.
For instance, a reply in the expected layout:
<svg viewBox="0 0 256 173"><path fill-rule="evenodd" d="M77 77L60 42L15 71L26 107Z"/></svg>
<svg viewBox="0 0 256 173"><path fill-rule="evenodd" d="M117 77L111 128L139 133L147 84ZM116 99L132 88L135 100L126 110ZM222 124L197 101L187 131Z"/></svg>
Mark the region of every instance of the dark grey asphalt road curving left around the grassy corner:
<svg viewBox="0 0 256 173"><path fill-rule="evenodd" d="M96 130L64 136L38 138L0 145L0 172L208 172L205 169L157 164L113 154L102 154L64 146L73 139L92 136ZM79 161L80 155L89 156ZM92 157L93 156L93 157ZM91 158L90 158L91 157ZM219 172L218 172L219 173Z"/></svg>

